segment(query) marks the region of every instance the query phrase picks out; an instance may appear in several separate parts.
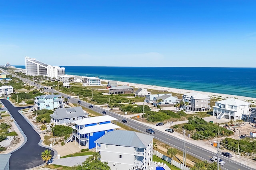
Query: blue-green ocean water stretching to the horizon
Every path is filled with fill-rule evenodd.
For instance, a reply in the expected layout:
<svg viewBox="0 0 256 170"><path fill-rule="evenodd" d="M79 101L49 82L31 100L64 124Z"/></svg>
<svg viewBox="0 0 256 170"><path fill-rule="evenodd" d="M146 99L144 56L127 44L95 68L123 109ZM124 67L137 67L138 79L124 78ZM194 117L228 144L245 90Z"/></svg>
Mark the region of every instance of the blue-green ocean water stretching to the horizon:
<svg viewBox="0 0 256 170"><path fill-rule="evenodd" d="M66 74L256 98L256 68L64 67Z"/></svg>

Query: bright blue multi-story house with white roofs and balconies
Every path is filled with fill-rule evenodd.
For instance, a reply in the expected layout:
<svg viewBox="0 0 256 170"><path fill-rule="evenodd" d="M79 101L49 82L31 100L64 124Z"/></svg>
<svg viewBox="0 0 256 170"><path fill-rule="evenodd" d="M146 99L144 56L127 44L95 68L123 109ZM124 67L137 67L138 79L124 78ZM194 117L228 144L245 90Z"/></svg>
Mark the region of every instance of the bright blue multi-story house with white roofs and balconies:
<svg viewBox="0 0 256 170"><path fill-rule="evenodd" d="M116 118L109 115L88 117L74 121L73 141L78 143L78 146L85 146L88 149L95 148L94 141L110 131L119 129L116 125Z"/></svg>

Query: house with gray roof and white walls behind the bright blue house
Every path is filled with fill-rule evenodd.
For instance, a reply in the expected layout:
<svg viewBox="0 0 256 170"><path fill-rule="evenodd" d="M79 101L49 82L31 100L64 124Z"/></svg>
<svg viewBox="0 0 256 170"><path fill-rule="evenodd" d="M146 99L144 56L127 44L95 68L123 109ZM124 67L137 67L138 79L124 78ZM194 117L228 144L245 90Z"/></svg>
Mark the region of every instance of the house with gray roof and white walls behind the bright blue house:
<svg viewBox="0 0 256 170"><path fill-rule="evenodd" d="M88 115L89 114L79 106L55 109L50 117L51 123L55 125L72 125L74 121L87 118Z"/></svg>

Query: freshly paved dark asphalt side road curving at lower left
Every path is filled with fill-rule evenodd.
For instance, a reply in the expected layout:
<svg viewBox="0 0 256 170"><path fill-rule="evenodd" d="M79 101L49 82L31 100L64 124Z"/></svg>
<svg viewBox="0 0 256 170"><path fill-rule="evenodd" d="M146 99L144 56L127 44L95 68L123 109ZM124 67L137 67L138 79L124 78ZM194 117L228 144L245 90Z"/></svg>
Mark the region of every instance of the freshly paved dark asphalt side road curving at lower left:
<svg viewBox="0 0 256 170"><path fill-rule="evenodd" d="M12 153L10 158L10 170L24 170L43 164L41 152L46 150L46 148L38 145L41 140L40 136L18 112L18 110L28 107L14 107L8 100L4 99L1 99L1 102L8 109L27 137L25 145ZM51 153L54 154L53 151Z"/></svg>

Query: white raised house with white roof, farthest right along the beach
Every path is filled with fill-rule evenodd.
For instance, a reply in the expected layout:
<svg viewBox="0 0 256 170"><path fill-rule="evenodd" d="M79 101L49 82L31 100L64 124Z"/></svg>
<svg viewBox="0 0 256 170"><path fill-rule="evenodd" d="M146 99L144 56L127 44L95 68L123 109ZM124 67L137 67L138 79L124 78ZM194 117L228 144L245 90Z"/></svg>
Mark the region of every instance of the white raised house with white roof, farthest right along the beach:
<svg viewBox="0 0 256 170"><path fill-rule="evenodd" d="M217 119L230 119L233 121L241 120L243 117L250 117L251 107L250 103L244 102L235 98L221 100L215 102L213 106L213 115Z"/></svg>

